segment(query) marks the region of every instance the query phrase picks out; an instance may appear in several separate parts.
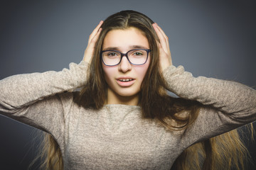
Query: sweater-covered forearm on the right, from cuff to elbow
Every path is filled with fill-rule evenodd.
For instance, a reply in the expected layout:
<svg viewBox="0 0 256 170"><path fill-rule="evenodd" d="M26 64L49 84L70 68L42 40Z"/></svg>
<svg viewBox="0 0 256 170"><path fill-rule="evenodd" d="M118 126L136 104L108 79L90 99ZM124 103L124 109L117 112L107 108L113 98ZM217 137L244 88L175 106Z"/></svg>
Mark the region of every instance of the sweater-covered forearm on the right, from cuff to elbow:
<svg viewBox="0 0 256 170"><path fill-rule="evenodd" d="M165 70L164 78L168 90L181 98L199 101L223 113L233 113L233 115L256 113L256 91L243 84L193 77L191 73L185 72L183 67L174 66Z"/></svg>

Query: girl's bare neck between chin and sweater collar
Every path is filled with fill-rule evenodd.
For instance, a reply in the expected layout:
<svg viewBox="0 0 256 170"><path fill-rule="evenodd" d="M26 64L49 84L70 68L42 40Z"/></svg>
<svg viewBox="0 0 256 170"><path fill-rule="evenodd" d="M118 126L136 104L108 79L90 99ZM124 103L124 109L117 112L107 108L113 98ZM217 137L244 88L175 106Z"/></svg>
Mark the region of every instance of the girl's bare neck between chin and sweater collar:
<svg viewBox="0 0 256 170"><path fill-rule="evenodd" d="M139 94L134 96L120 96L114 91L107 89L107 104L123 104L137 106L139 103Z"/></svg>

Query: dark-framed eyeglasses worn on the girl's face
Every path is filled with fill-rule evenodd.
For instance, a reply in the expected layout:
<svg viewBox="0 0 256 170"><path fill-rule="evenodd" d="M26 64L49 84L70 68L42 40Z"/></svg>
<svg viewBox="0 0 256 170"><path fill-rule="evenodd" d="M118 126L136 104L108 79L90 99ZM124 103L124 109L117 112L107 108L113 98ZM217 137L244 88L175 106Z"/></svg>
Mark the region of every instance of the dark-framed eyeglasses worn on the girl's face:
<svg viewBox="0 0 256 170"><path fill-rule="evenodd" d="M118 65L122 61L122 57L127 57L129 63L134 65L142 65L146 63L149 57L149 49L134 49L127 53L122 53L117 50L104 50L100 52L102 62L107 66Z"/></svg>

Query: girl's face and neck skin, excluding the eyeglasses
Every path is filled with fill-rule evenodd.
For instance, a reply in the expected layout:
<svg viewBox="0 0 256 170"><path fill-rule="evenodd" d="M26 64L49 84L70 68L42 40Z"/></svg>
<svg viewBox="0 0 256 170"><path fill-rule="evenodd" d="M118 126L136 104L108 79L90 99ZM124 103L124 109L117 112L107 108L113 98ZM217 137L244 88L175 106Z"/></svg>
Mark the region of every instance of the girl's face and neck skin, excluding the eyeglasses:
<svg viewBox="0 0 256 170"><path fill-rule="evenodd" d="M110 30L102 45L102 50L118 50L122 53L137 48L149 49L149 41L142 31L137 28ZM125 56L116 66L110 67L102 63L105 80L108 84L107 103L137 105L139 101L138 93L149 67L149 62L150 52L148 60L142 65L130 64Z"/></svg>

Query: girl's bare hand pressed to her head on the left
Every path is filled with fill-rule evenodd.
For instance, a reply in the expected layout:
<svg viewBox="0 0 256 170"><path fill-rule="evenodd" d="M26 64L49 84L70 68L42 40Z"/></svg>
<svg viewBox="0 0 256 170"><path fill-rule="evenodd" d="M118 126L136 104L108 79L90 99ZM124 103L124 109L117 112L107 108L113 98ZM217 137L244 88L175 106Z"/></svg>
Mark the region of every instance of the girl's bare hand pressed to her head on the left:
<svg viewBox="0 0 256 170"><path fill-rule="evenodd" d="M102 30L102 28L100 28L100 26L102 26L102 23L103 21L100 21L97 27L90 34L88 44L85 49L83 60L89 64L92 61L93 52L95 50L95 43L97 42L97 39L99 38L100 32Z"/></svg>

